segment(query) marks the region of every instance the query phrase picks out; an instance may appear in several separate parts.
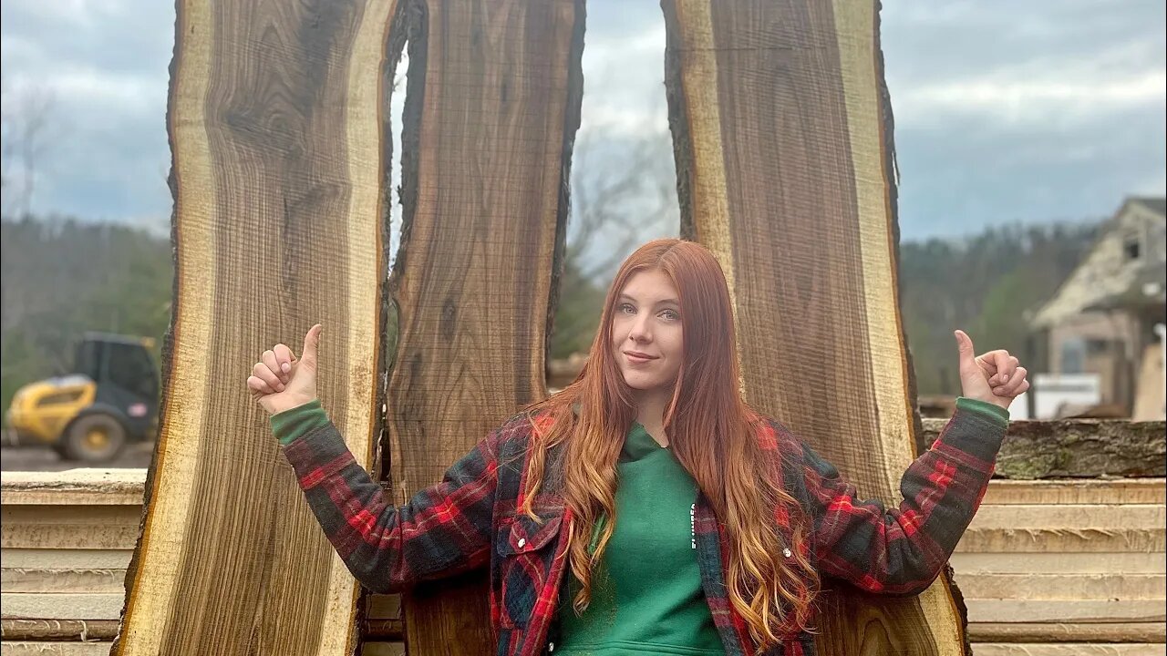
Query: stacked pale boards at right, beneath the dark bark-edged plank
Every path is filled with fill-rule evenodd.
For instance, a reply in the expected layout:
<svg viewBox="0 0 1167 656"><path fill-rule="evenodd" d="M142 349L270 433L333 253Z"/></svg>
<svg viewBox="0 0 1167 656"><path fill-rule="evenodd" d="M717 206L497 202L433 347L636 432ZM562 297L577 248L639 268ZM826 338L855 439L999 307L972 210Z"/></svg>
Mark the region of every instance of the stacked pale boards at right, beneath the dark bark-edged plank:
<svg viewBox="0 0 1167 656"><path fill-rule="evenodd" d="M1165 479L995 480L951 565L977 656L1162 655Z"/></svg>

